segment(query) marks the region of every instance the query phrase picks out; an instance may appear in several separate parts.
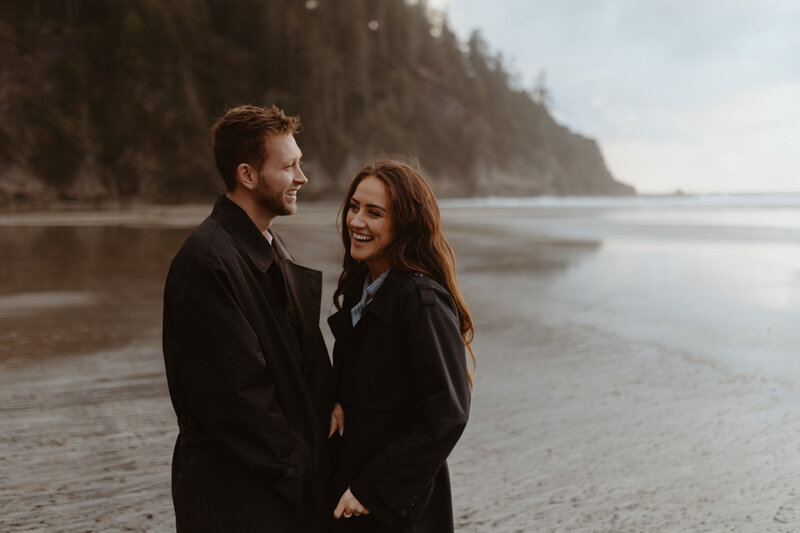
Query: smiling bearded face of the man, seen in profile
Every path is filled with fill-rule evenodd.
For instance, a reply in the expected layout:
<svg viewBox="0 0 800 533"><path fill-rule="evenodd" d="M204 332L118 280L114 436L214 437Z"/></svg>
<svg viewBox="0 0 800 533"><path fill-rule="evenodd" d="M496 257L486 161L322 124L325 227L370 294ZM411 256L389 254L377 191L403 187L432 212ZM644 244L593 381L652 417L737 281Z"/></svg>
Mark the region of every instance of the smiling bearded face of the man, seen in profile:
<svg viewBox="0 0 800 533"><path fill-rule="evenodd" d="M297 211L297 191L308 183L300 170L303 153L292 135L270 135L264 142L267 158L253 198L275 216L291 215Z"/></svg>

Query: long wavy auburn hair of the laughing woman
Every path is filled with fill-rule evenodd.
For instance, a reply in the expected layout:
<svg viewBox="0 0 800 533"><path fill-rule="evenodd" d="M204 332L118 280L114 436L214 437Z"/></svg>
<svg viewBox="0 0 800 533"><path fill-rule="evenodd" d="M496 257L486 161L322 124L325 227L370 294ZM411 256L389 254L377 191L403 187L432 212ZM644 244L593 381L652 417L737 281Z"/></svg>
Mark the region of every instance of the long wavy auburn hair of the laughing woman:
<svg viewBox="0 0 800 533"><path fill-rule="evenodd" d="M475 353L470 343L475 333L467 304L456 283L456 260L453 249L442 234L441 217L436 196L422 175L408 164L381 159L368 163L356 174L347 187L344 203L339 213L344 244L342 274L333 303L341 309L340 297L345 288L362 279L367 272L364 263L350 256L350 232L347 229L347 213L356 187L365 178L375 176L386 185L389 211L393 221L394 239L388 244L385 254L392 272L422 272L439 282L455 301L460 322L461 337L475 365ZM472 373L469 373L472 384Z"/></svg>

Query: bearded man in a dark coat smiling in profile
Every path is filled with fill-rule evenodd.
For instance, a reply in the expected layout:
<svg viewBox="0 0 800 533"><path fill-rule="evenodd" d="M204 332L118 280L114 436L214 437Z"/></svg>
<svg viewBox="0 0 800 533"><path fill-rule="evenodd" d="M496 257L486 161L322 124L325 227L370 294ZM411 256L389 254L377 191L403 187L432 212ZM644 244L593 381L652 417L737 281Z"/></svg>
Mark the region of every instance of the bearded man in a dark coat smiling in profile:
<svg viewBox="0 0 800 533"><path fill-rule="evenodd" d="M325 530L332 371L321 273L294 264L272 221L308 180L297 117L242 106L212 129L228 190L186 239L164 290L164 361L179 435L180 531Z"/></svg>

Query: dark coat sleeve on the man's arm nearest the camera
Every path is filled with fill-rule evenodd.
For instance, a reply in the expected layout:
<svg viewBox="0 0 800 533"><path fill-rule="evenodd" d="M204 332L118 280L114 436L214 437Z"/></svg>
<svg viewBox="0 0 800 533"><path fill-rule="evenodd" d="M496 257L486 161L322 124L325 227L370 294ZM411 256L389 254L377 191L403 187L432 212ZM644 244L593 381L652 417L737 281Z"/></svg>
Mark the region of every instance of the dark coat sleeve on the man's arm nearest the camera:
<svg viewBox="0 0 800 533"><path fill-rule="evenodd" d="M177 360L186 399L179 422L300 506L310 450L289 428L235 294L224 269L198 266L165 299L165 350Z"/></svg>

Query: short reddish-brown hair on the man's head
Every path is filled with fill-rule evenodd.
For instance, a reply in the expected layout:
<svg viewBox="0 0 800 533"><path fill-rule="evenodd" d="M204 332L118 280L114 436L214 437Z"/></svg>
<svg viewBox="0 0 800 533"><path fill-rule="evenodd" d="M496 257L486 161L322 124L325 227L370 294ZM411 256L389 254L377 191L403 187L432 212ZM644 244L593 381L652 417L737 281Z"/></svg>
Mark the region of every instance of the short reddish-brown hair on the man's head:
<svg viewBox="0 0 800 533"><path fill-rule="evenodd" d="M228 191L236 188L236 169L247 163L257 171L268 154L264 143L271 135L294 135L301 128L300 117L289 117L272 106L269 109L243 105L229 109L211 128L214 162Z"/></svg>

